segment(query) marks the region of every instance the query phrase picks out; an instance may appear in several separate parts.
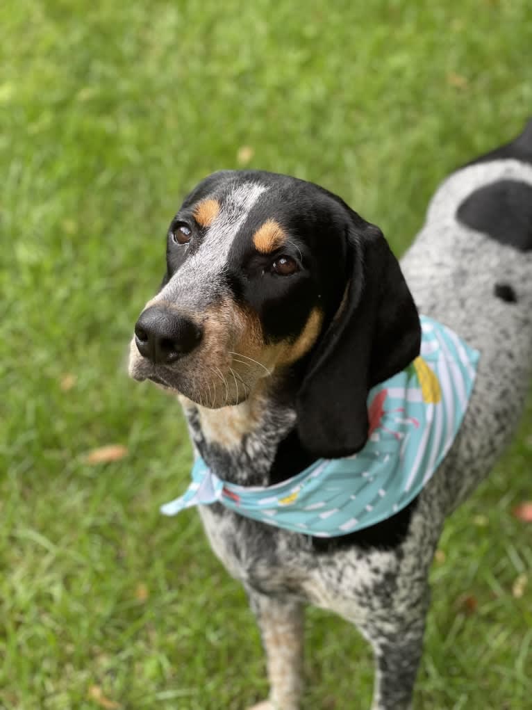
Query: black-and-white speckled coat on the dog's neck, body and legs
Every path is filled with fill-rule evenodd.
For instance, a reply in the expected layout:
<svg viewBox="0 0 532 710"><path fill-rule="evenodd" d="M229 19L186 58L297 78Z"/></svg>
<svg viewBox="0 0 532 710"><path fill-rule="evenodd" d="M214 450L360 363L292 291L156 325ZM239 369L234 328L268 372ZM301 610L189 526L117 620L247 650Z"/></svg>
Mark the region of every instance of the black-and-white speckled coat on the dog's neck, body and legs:
<svg viewBox="0 0 532 710"><path fill-rule="evenodd" d="M378 530L332 542L256 523L219 504L201 508L211 546L245 586L262 631L271 692L257 708L301 708L306 603L354 623L372 645L375 710L411 706L429 603L428 570L443 523L509 442L530 381L531 196L529 124L516 141L440 185L423 229L401 260L419 312L454 329L481 354L458 437L414 504ZM143 378L135 354L132 362L133 376ZM182 397L194 447L221 478L271 482L277 448L298 416L292 395L279 397L277 389L289 391L286 381L272 381L222 410ZM338 703L358 706L356 688L353 698Z"/></svg>

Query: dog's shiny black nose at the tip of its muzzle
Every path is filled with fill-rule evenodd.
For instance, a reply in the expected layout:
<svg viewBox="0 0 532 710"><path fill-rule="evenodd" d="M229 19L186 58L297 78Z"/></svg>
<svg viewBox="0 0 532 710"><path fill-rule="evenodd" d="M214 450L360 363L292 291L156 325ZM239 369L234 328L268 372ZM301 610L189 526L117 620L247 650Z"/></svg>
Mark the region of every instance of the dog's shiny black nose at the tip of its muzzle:
<svg viewBox="0 0 532 710"><path fill-rule="evenodd" d="M201 328L187 317L151 306L135 324L138 351L155 364L169 365L199 344Z"/></svg>

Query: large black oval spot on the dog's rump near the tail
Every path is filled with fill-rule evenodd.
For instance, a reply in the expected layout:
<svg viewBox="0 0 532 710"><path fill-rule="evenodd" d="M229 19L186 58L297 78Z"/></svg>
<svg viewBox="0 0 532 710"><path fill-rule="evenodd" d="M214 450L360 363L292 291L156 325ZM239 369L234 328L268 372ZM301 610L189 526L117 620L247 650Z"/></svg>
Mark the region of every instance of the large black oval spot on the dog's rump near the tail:
<svg viewBox="0 0 532 710"><path fill-rule="evenodd" d="M458 207L463 224L519 251L532 250L532 187L498 180L475 190Z"/></svg>

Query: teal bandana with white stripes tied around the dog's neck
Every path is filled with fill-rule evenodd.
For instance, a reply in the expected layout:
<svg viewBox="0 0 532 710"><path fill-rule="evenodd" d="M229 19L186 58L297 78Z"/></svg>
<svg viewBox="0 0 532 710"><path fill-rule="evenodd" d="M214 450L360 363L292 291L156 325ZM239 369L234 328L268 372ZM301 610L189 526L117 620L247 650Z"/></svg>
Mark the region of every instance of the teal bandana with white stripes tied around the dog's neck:
<svg viewBox="0 0 532 710"><path fill-rule="evenodd" d="M165 515L223 503L254 520L316 537L362 530L404 508L450 449L470 398L479 353L444 325L421 316L421 354L367 399L365 447L345 459L318 459L275 486L222 481L199 457L183 496Z"/></svg>

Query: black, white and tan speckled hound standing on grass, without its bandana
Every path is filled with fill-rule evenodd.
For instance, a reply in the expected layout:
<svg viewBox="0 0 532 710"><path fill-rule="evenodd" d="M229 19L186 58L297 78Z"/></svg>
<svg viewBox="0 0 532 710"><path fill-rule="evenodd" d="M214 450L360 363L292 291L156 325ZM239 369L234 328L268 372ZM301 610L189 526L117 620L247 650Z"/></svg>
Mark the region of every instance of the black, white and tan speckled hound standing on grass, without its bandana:
<svg viewBox="0 0 532 710"><path fill-rule="evenodd" d="M199 506L260 626L270 696L255 710L301 707L307 603L371 644L373 709L411 707L444 520L509 442L530 381L532 121L444 180L400 266L340 197L252 170L199 183L170 223L166 258L130 373L178 394L196 457L226 485L270 488L361 452L370 391L419 356L419 314L479 354L445 458L378 523L321 537L218 499Z"/></svg>

